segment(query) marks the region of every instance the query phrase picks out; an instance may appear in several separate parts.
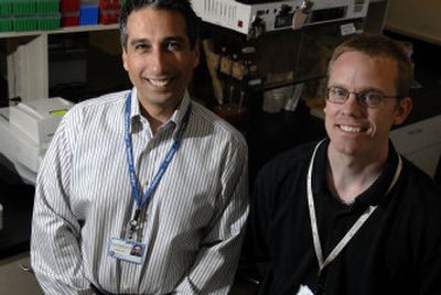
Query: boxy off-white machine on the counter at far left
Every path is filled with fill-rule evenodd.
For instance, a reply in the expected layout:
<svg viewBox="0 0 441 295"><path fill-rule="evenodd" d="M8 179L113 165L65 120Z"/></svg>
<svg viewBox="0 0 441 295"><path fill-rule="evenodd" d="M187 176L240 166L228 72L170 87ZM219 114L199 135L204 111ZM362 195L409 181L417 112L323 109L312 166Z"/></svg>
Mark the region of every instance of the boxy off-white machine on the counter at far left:
<svg viewBox="0 0 441 295"><path fill-rule="evenodd" d="M14 172L35 184L40 163L63 116L73 103L63 98L44 98L0 109L0 153ZM7 165L8 167L8 165Z"/></svg>

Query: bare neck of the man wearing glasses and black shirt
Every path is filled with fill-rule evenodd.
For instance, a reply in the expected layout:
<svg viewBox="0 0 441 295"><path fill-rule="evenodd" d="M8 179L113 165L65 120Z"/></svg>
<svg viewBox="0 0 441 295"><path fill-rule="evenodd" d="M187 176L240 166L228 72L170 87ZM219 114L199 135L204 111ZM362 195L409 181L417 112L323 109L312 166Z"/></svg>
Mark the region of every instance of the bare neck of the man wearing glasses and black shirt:
<svg viewBox="0 0 441 295"><path fill-rule="evenodd" d="M386 156L351 156L340 154L332 149L327 151L327 186L331 193L342 203L351 204L369 188L380 175Z"/></svg>

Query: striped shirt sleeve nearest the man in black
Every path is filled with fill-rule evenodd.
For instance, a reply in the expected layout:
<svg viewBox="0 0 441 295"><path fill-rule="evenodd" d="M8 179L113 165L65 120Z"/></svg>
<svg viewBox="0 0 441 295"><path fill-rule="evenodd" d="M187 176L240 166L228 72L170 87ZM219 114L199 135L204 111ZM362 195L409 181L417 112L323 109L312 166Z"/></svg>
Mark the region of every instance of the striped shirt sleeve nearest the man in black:
<svg viewBox="0 0 441 295"><path fill-rule="evenodd" d="M225 163L218 214L173 294L228 294L233 284L249 211L247 148L237 145Z"/></svg>

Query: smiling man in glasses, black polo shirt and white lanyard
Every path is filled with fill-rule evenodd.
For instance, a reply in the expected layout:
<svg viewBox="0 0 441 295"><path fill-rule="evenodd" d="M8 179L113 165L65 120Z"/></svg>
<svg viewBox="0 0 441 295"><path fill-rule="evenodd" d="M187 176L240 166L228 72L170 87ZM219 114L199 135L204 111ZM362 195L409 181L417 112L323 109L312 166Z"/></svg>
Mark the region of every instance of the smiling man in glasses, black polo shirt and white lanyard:
<svg viewBox="0 0 441 295"><path fill-rule="evenodd" d="M327 139L256 179L246 250L268 265L260 294L441 294L441 194L389 141L411 81L408 55L385 36L334 51Z"/></svg>

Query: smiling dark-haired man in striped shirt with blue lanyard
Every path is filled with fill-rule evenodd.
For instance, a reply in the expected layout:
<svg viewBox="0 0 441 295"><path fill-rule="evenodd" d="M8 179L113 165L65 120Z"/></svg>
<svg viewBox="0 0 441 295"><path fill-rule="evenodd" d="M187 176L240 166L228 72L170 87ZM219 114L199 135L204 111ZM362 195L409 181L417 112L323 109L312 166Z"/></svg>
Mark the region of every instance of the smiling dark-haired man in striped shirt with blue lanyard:
<svg viewBox="0 0 441 295"><path fill-rule="evenodd" d="M31 259L46 294L228 293L247 146L189 96L197 25L189 1L125 1L133 88L76 105L39 172Z"/></svg>

